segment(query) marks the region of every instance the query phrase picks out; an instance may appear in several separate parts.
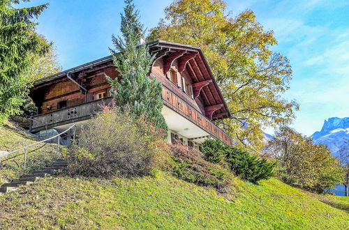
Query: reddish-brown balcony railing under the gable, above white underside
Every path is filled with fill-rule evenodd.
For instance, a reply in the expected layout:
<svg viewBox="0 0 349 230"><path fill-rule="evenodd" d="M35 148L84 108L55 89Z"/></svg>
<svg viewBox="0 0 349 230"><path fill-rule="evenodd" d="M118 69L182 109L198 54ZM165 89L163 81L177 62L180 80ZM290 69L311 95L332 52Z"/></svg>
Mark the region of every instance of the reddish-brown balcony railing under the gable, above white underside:
<svg viewBox="0 0 349 230"><path fill-rule="evenodd" d="M232 139L226 132L221 130L221 128L218 128L218 126L212 123L209 118L191 107L191 105L188 105L188 103L184 102L184 100L182 100L176 93L174 93L164 85L162 97L164 105L181 114L181 116L184 116L189 121L193 122L195 125L198 125L200 128L208 132L213 137L216 137L217 139L223 141L225 144L232 144Z"/></svg>

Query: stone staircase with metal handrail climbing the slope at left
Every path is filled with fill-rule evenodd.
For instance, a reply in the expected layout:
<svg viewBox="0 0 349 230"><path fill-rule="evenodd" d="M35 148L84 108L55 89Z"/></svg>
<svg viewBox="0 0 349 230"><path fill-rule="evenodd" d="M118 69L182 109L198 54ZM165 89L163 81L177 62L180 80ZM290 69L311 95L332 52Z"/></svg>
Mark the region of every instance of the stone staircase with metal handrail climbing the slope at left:
<svg viewBox="0 0 349 230"><path fill-rule="evenodd" d="M34 171L32 174L24 174L20 178L11 181L10 183L4 183L0 187L0 195L6 194L13 190L17 190L20 185L29 185L34 183L38 178L45 178L54 174L58 174L66 166L67 162L64 160L58 160L52 164L50 167L45 167L40 170Z"/></svg>

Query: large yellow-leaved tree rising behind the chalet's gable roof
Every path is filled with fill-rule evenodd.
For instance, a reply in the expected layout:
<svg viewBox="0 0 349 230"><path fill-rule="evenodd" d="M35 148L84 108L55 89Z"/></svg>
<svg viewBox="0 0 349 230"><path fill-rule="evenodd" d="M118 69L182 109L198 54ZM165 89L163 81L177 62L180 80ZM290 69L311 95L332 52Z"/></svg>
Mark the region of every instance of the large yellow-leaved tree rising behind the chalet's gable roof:
<svg viewBox="0 0 349 230"><path fill-rule="evenodd" d="M232 114L221 125L237 144L260 148L262 128L289 123L298 109L281 96L292 68L272 52L273 31L265 31L253 11L231 17L226 8L222 0L176 0L149 38L201 47Z"/></svg>

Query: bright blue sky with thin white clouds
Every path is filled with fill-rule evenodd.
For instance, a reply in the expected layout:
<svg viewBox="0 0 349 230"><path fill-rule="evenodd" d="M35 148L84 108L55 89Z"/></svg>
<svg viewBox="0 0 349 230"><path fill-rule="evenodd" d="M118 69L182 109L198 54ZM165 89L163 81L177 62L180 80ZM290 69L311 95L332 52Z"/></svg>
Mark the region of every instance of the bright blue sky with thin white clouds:
<svg viewBox="0 0 349 230"><path fill-rule="evenodd" d="M135 0L147 28L156 26L171 2ZM349 116L348 0L226 2L232 15L253 10L258 22L274 31L279 45L273 49L290 59L293 79L285 98L301 106L293 128L311 135L326 118ZM71 68L109 55L112 33L119 34L123 6L121 0L51 1L38 20L38 31L54 41L63 68Z"/></svg>

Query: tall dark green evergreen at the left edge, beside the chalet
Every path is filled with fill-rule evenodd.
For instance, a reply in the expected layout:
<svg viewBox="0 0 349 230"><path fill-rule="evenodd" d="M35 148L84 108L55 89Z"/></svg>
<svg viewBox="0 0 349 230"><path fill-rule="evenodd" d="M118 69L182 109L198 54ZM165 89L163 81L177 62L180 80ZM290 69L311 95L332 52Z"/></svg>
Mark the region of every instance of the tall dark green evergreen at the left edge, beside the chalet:
<svg viewBox="0 0 349 230"><path fill-rule="evenodd" d="M20 113L20 105L29 92L30 80L26 72L34 61L33 56L45 54L50 47L35 32L33 21L47 4L13 7L20 2L0 1L0 123Z"/></svg>

